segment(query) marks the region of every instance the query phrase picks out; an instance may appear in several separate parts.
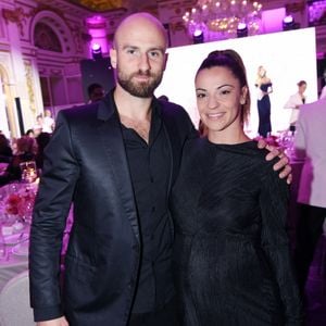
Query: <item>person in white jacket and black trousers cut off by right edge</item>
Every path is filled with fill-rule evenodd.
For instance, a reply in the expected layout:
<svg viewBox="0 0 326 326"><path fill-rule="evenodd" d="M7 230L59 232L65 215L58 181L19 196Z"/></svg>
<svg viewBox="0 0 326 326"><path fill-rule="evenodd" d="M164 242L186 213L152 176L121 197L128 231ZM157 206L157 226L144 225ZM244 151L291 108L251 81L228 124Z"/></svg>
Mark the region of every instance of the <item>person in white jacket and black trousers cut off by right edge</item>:
<svg viewBox="0 0 326 326"><path fill-rule="evenodd" d="M326 217L326 142L321 140L325 126L326 98L300 106L294 147L297 155L304 159L304 164L298 191L301 214L297 229L296 263L302 292Z"/></svg>

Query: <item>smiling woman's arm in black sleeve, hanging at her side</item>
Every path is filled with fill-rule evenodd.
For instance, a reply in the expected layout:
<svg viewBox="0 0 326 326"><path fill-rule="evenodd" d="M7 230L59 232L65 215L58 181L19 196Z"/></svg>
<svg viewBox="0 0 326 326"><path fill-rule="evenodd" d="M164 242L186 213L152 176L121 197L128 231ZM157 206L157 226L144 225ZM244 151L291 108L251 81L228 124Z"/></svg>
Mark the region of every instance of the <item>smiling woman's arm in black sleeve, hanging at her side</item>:
<svg viewBox="0 0 326 326"><path fill-rule="evenodd" d="M271 168L261 185L262 248L278 285L286 325L302 325L302 302L287 234L288 186Z"/></svg>

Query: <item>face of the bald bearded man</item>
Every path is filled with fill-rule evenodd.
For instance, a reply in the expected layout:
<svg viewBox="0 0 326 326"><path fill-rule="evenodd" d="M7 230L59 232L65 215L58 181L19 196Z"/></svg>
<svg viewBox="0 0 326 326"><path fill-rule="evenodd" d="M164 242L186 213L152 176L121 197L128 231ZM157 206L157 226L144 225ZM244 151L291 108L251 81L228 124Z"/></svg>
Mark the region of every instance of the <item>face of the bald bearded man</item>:
<svg viewBox="0 0 326 326"><path fill-rule="evenodd" d="M166 40L151 22L134 23L118 32L111 62L116 68L117 84L125 91L134 97L151 98L163 77Z"/></svg>

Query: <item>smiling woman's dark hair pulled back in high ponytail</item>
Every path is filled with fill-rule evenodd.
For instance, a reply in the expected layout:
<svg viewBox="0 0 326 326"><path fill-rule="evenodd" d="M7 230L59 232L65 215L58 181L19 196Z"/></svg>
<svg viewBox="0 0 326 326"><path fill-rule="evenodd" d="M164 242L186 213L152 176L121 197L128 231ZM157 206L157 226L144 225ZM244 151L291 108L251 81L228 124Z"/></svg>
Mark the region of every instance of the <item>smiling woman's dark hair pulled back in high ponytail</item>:
<svg viewBox="0 0 326 326"><path fill-rule="evenodd" d="M216 50L212 51L199 66L196 78L202 70L209 70L215 66L226 67L239 80L240 87L247 87L246 102L241 108L241 122L247 122L250 112L250 93L247 82L247 73L241 57L235 50Z"/></svg>

